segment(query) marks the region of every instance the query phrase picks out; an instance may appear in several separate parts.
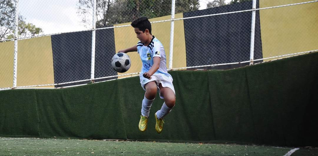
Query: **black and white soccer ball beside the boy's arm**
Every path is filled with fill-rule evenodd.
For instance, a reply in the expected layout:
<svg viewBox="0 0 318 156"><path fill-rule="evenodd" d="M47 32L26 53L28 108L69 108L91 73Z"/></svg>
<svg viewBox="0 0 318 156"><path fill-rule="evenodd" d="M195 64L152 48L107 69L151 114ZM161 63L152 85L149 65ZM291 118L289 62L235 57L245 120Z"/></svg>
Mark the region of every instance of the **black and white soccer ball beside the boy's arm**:
<svg viewBox="0 0 318 156"><path fill-rule="evenodd" d="M130 68L130 58L127 54L119 52L112 58L112 67L117 72L126 72Z"/></svg>

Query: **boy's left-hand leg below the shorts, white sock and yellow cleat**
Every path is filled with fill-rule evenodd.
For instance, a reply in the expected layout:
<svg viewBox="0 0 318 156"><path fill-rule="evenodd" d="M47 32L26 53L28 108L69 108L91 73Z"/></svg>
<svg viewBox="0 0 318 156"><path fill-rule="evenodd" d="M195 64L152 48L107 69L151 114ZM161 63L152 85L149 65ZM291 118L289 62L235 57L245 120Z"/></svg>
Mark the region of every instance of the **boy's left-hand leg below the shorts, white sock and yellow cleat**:
<svg viewBox="0 0 318 156"><path fill-rule="evenodd" d="M146 89L146 93L145 93L144 99L142 100L142 109L141 109L142 116L140 117L140 121L138 125L139 130L142 132L146 131L147 129L150 107L156 97L156 92L157 92L156 82L151 81L147 83L145 85L145 89Z"/></svg>

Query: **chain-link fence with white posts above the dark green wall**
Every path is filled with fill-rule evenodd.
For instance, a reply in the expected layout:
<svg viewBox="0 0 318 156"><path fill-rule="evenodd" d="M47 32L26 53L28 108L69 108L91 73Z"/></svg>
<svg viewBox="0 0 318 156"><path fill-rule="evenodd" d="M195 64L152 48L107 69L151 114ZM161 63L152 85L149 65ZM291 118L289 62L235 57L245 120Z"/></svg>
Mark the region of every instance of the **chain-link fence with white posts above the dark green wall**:
<svg viewBox="0 0 318 156"><path fill-rule="evenodd" d="M137 44L130 23L141 16L152 22L170 69L229 69L318 49L317 0L0 2L2 89L123 77L111 58ZM140 56L128 55L125 74L138 75Z"/></svg>

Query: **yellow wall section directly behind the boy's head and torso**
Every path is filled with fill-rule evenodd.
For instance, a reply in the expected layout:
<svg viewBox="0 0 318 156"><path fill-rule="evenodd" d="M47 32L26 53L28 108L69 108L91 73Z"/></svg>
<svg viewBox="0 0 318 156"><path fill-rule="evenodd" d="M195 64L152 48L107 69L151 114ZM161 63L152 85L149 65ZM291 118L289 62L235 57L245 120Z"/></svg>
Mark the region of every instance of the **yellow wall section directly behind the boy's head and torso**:
<svg viewBox="0 0 318 156"><path fill-rule="evenodd" d="M183 18L183 13L175 15L175 18ZM157 17L149 19L150 22L161 21L171 19L171 15L164 17ZM128 25L130 23L117 24L119 25ZM160 22L151 24L151 33L154 35L163 45L166 52L167 59L167 68L169 68L169 46L170 46L170 26L171 22ZM184 39L184 27L183 20L175 21L174 27L174 44L173 44L173 64L172 68L186 67L186 53L185 53L185 39ZM115 49L118 52L121 49L126 49L132 46L137 45L138 39L136 37L134 28L129 27L120 27L114 28L115 36ZM142 67L142 62L140 56L137 52L128 53L131 59L131 67L126 73L140 72ZM121 74L121 73L118 73Z"/></svg>

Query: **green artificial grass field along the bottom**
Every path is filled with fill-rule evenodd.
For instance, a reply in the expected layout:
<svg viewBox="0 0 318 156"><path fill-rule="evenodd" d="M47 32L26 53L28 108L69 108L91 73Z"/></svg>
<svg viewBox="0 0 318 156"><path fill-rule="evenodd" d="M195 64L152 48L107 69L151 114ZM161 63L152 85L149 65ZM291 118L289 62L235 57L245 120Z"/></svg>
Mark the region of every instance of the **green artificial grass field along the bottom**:
<svg viewBox="0 0 318 156"><path fill-rule="evenodd" d="M283 156L293 147L237 144L109 141L56 138L0 137L0 155L248 155ZM317 155L317 148L301 148L294 155Z"/></svg>

